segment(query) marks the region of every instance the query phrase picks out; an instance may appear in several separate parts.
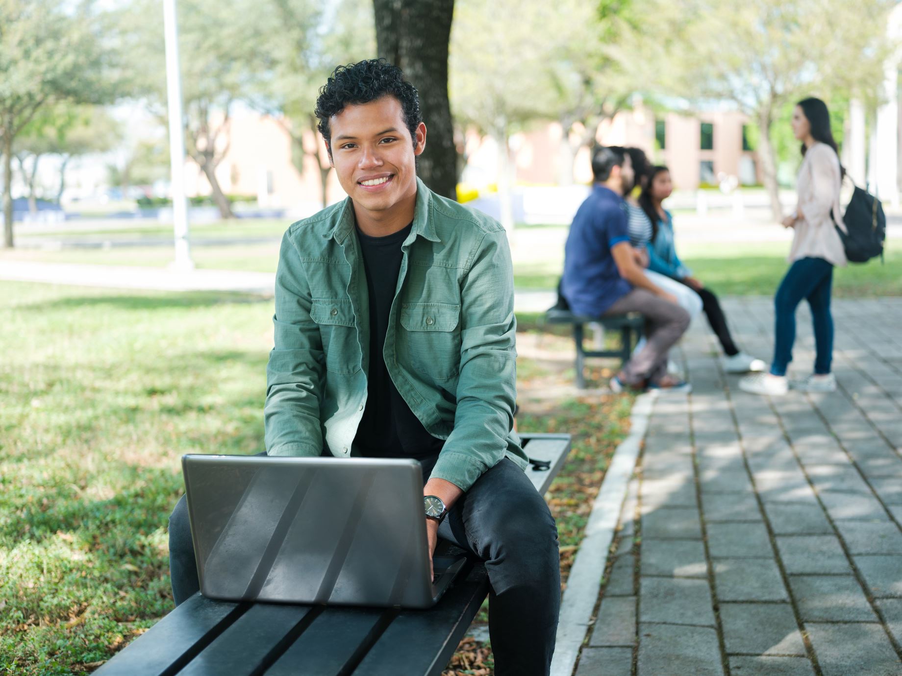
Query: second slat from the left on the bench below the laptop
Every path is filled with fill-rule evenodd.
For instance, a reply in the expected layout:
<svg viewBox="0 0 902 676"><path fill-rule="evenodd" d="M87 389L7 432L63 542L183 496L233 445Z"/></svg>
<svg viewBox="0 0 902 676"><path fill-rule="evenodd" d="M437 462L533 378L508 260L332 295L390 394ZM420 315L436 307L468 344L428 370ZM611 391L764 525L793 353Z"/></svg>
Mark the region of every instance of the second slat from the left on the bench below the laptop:
<svg viewBox="0 0 902 676"><path fill-rule="evenodd" d="M195 657L179 676L222 676L248 674L258 669L267 657L281 653L291 644L299 626L315 606L291 606L255 603ZM275 659L275 657L273 657Z"/></svg>

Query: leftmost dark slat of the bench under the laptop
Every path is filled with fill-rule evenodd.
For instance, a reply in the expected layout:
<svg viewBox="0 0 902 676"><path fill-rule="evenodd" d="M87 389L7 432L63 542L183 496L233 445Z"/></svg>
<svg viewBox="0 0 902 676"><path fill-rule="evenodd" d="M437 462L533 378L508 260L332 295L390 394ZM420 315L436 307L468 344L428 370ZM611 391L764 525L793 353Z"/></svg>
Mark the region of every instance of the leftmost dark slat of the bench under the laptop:
<svg viewBox="0 0 902 676"><path fill-rule="evenodd" d="M103 676L176 673L216 639L217 629L227 628L249 607L249 604L214 601L195 594L95 673Z"/></svg>

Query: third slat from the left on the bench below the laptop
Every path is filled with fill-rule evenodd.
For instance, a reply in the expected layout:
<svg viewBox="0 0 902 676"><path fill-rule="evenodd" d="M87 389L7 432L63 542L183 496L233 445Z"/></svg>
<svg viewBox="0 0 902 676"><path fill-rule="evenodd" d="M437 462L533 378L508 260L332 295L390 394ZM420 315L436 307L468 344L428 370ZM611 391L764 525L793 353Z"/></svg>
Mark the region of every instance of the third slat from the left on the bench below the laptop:
<svg viewBox="0 0 902 676"><path fill-rule="evenodd" d="M391 620L395 612L327 608L266 671L266 676L335 676L359 659L356 653L362 646L365 649L372 643L372 635L382 628L382 617Z"/></svg>

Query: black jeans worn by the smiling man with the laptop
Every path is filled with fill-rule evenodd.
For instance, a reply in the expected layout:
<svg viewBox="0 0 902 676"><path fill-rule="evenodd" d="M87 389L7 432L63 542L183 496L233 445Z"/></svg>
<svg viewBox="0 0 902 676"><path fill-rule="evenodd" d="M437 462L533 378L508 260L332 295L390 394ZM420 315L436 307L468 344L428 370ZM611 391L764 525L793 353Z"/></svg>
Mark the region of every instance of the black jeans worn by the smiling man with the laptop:
<svg viewBox="0 0 902 676"><path fill-rule="evenodd" d="M199 589L184 497L172 510L169 533L179 605ZM507 459L487 470L457 500L438 535L485 563L495 674L548 674L560 611L557 525L525 473Z"/></svg>

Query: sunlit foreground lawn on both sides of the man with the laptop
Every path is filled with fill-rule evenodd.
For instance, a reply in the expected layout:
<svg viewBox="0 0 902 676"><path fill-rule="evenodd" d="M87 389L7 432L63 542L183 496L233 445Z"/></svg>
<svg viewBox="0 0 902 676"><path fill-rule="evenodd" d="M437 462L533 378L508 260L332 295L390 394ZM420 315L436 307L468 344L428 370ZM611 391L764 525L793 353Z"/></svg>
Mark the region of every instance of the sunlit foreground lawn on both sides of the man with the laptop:
<svg viewBox="0 0 902 676"><path fill-rule="evenodd" d="M272 301L0 282L0 673L91 671L170 611L179 456L262 450L271 346ZM521 358L522 386L571 366ZM566 571L630 400L551 405L520 425L576 435Z"/></svg>

